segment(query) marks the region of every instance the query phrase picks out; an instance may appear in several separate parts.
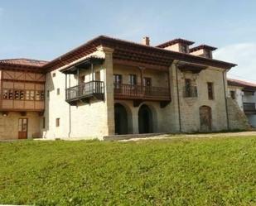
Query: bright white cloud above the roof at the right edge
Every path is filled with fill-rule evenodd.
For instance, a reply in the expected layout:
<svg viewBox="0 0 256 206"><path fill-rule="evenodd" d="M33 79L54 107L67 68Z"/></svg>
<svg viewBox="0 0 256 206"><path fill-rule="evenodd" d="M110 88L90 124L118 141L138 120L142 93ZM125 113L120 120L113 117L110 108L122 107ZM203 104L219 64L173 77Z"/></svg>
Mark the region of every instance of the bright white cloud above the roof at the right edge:
<svg viewBox="0 0 256 206"><path fill-rule="evenodd" d="M256 82L256 43L234 44L216 50L215 59L238 66L229 71L229 78Z"/></svg>

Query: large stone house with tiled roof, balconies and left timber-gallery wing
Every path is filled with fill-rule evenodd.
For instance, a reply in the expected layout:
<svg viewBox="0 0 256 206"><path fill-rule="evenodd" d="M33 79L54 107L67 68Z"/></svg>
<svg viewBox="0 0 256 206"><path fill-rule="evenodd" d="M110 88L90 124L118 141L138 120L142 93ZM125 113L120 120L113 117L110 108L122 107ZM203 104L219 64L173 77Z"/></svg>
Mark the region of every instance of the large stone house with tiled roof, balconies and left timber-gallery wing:
<svg viewBox="0 0 256 206"><path fill-rule="evenodd" d="M212 46L98 36L50 62L0 60L0 139L246 128Z"/></svg>

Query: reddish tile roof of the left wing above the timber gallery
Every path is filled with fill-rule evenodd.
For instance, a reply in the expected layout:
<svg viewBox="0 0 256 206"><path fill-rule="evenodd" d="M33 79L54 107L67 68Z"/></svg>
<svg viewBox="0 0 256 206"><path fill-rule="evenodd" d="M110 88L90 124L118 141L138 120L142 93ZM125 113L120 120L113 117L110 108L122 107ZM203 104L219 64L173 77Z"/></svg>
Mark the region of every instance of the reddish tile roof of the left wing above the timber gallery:
<svg viewBox="0 0 256 206"><path fill-rule="evenodd" d="M0 64L8 64L8 65L28 65L28 66L38 66L41 67L46 65L48 62L45 60L31 60L31 59L9 59L9 60L0 60Z"/></svg>

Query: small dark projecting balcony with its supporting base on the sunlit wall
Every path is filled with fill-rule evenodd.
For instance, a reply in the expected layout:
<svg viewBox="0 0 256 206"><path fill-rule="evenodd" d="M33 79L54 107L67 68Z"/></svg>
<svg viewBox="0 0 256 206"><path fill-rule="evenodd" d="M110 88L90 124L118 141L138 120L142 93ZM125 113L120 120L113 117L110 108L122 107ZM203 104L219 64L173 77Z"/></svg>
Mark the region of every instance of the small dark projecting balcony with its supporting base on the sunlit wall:
<svg viewBox="0 0 256 206"><path fill-rule="evenodd" d="M66 89L65 101L70 105L76 105L79 101L89 103L91 98L104 100L104 82L90 81Z"/></svg>

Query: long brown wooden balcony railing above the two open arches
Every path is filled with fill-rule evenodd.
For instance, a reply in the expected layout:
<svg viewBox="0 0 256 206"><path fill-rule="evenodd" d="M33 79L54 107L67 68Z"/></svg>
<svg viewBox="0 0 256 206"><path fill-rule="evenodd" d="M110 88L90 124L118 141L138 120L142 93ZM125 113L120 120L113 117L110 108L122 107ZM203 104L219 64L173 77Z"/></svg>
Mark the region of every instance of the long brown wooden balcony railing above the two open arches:
<svg viewBox="0 0 256 206"><path fill-rule="evenodd" d="M114 84L114 98L170 101L170 89L131 84Z"/></svg>

